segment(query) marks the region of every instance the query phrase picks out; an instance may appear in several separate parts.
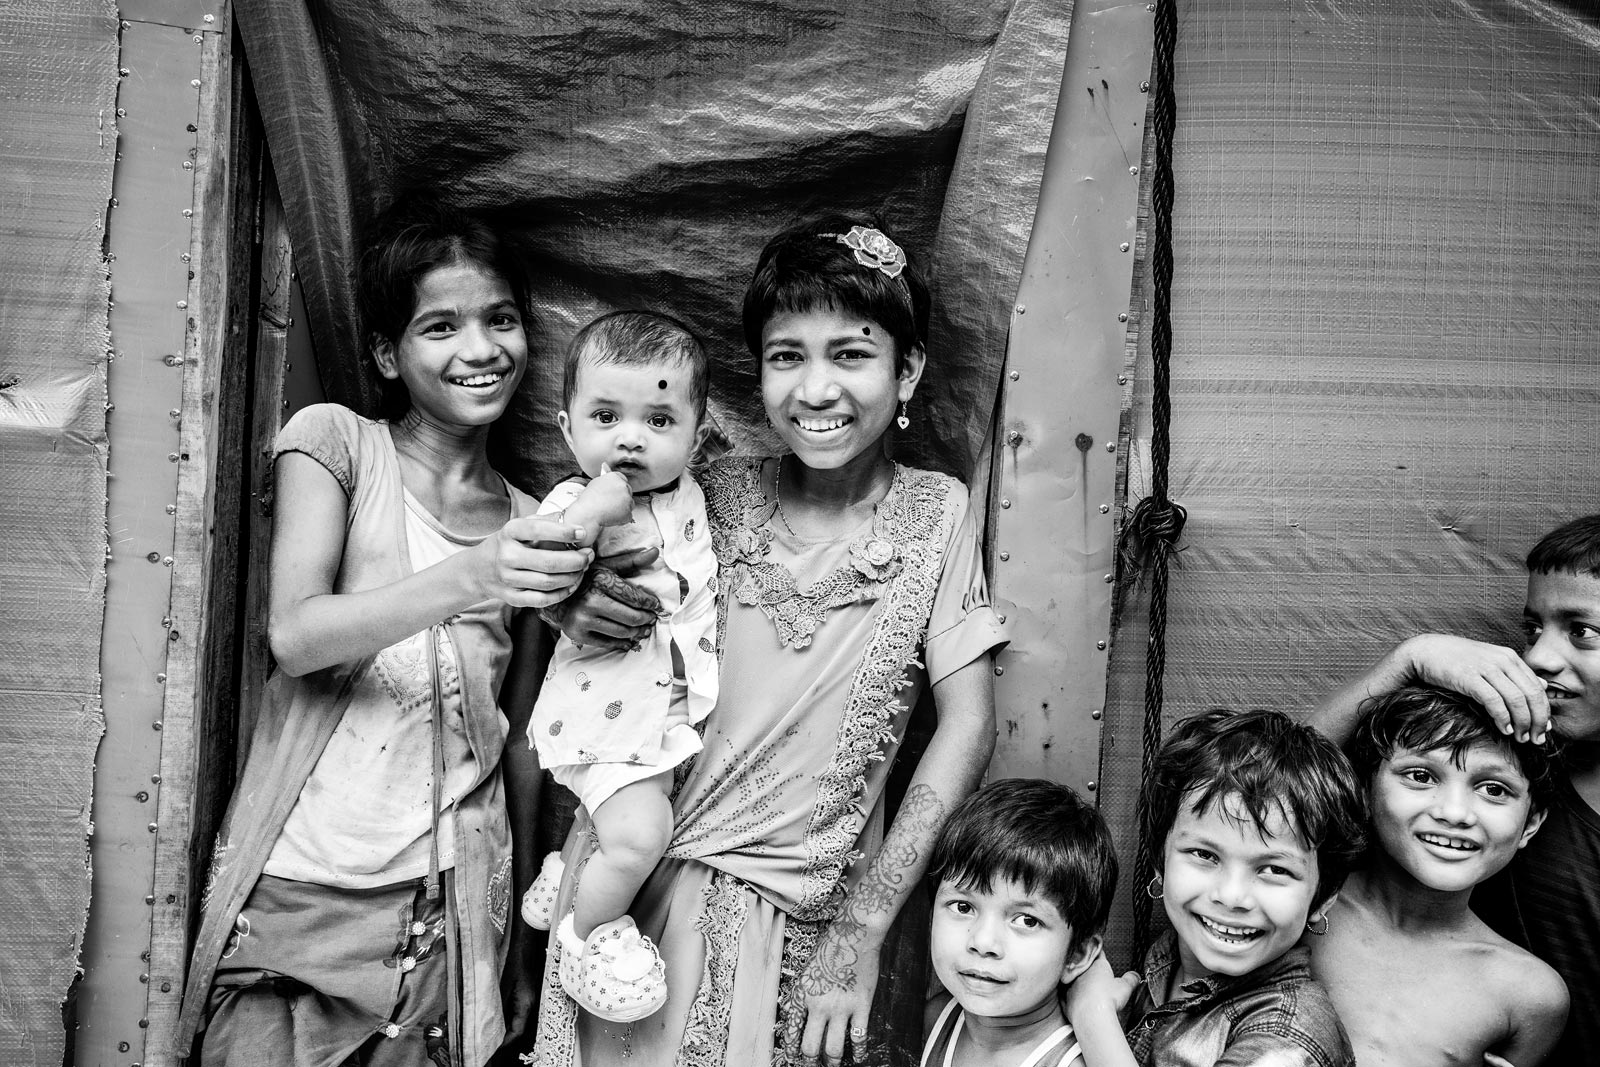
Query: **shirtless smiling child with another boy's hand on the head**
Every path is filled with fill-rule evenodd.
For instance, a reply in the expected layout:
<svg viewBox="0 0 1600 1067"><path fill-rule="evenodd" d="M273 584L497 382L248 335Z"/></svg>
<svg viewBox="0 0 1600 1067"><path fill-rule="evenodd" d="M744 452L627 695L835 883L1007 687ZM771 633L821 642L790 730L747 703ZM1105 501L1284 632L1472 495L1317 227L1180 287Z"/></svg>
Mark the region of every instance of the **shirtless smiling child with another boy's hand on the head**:
<svg viewBox="0 0 1600 1067"><path fill-rule="evenodd" d="M1370 848L1306 945L1357 1061L1539 1064L1562 1035L1566 987L1467 901L1544 821L1549 755L1434 686L1368 701L1344 752L1368 790Z"/></svg>

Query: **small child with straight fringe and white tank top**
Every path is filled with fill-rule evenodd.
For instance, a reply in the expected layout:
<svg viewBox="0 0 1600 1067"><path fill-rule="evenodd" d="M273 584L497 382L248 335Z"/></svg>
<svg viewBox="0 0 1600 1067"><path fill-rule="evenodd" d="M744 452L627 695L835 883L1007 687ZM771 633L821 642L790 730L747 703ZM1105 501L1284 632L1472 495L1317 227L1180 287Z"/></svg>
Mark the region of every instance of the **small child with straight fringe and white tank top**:
<svg viewBox="0 0 1600 1067"><path fill-rule="evenodd" d="M1101 950L1117 888L1106 821L1066 785L1003 779L939 830L928 869L933 969L922 1062L1067 1067L1080 1059L1061 987Z"/></svg>

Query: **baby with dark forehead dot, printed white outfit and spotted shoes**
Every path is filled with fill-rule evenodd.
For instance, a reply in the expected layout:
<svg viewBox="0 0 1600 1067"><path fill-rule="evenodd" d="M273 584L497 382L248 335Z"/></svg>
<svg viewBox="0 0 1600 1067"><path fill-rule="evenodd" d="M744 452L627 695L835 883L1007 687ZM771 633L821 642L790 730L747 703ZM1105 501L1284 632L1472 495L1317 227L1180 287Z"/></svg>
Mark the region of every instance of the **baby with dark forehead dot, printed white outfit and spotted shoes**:
<svg viewBox="0 0 1600 1067"><path fill-rule="evenodd" d="M666 1003L666 969L627 909L672 835L672 768L701 749L694 723L717 702L717 560L690 461L706 435L706 350L677 320L614 312L584 326L566 355L558 422L586 477L557 485L541 512L598 536L598 555L656 547L635 584L661 600L634 651L565 637L533 709L539 763L571 789L598 838L573 909L557 925L562 989L613 1022ZM549 929L562 859L552 853L523 897Z"/></svg>

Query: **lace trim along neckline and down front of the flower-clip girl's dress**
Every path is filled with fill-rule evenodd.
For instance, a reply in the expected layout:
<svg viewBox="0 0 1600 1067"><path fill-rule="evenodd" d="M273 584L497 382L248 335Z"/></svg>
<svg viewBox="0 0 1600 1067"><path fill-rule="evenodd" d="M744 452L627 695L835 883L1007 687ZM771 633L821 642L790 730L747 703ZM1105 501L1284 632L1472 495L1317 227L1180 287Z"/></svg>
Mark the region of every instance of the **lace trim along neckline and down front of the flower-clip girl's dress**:
<svg viewBox="0 0 1600 1067"><path fill-rule="evenodd" d="M789 568L766 558L773 534L765 526L773 504L762 490L762 462L723 461L702 482L712 545L730 595L760 606L779 640L795 648L811 643L827 609L872 597L885 601L851 680L838 745L818 777L818 801L805 832L810 859L790 915L824 920L838 907L845 867L859 859L853 846L867 817L867 763L883 760L899 741L890 726L907 710L898 693L910 667L920 665L915 656L933 614L954 523L950 501L960 483L896 466L870 528L850 545L850 563L802 590ZM723 605L718 646L725 627Z"/></svg>

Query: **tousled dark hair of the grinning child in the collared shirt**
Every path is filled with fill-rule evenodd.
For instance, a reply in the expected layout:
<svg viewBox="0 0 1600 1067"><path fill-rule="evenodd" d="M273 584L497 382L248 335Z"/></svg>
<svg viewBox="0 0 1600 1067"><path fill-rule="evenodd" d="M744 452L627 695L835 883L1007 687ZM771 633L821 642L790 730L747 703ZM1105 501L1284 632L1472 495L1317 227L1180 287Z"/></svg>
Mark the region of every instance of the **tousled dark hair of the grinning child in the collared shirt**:
<svg viewBox="0 0 1600 1067"><path fill-rule="evenodd" d="M1211 710L1179 720L1155 757L1144 798L1152 873L1160 873L1160 851L1182 803L1200 813L1237 798L1261 832L1282 816L1317 853L1314 910L1344 885L1366 840L1365 792L1350 761L1283 712Z"/></svg>

